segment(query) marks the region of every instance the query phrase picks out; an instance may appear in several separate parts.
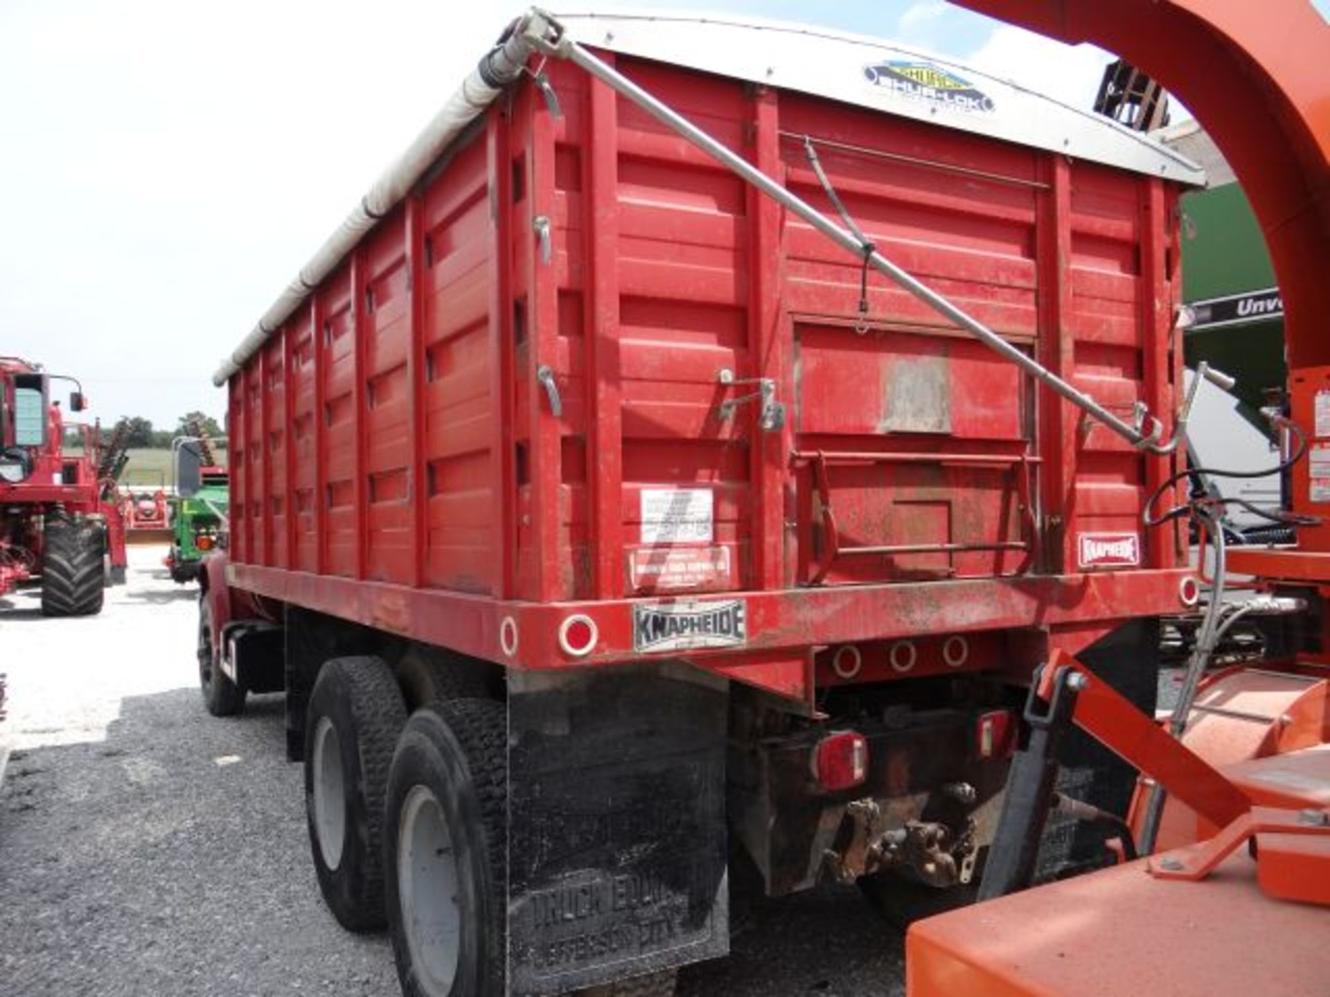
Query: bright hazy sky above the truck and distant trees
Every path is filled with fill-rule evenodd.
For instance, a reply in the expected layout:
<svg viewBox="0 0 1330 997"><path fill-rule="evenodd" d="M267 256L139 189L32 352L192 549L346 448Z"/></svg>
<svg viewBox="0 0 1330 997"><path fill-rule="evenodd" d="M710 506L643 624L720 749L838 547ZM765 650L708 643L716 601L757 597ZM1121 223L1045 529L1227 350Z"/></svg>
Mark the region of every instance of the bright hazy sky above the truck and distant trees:
<svg viewBox="0 0 1330 997"><path fill-rule="evenodd" d="M218 360L525 5L0 1L0 354L80 378L104 423L221 417ZM943 0L669 7L876 35L1085 108L1111 58Z"/></svg>

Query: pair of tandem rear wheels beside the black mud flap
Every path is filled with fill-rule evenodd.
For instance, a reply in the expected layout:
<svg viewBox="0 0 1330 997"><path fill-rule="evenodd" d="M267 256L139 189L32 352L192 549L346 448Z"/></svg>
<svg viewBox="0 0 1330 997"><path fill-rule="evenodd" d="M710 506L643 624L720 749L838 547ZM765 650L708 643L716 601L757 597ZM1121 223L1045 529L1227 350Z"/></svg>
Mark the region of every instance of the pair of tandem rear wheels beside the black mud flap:
<svg viewBox="0 0 1330 997"><path fill-rule="evenodd" d="M305 742L319 888L350 931L387 925L407 997L503 997L507 707L463 695L408 717L400 689L376 657L334 658L319 670ZM584 993L673 992L668 972Z"/></svg>

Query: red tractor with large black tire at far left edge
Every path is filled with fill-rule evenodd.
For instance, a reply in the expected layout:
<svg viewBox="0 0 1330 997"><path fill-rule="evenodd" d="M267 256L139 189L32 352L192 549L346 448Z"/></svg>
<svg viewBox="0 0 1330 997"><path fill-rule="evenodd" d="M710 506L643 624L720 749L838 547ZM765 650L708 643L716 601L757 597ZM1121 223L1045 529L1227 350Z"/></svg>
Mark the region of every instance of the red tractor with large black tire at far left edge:
<svg viewBox="0 0 1330 997"><path fill-rule="evenodd" d="M125 572L125 529L96 427L66 424L51 400L73 382L69 408L85 408L72 378L0 356L0 596L41 580L49 617L101 611L102 586ZM66 437L81 447L65 452Z"/></svg>

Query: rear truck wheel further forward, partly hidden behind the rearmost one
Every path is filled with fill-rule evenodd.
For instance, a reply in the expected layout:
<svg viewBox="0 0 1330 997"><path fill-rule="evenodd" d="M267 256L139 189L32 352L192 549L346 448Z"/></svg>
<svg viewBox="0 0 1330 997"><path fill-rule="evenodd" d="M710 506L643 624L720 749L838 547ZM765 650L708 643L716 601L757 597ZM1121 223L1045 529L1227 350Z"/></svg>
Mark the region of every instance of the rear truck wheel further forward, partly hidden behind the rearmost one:
<svg viewBox="0 0 1330 997"><path fill-rule="evenodd" d="M383 794L407 720L402 693L382 658L332 658L306 717L305 812L319 889L347 931L382 928Z"/></svg>

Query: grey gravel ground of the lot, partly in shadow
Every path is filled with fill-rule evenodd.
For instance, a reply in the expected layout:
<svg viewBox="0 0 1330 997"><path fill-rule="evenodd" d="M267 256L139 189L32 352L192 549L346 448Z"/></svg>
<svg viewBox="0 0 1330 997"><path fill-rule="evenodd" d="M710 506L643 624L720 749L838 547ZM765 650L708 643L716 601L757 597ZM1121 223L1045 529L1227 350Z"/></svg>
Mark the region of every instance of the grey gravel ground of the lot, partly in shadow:
<svg viewBox="0 0 1330 997"><path fill-rule="evenodd" d="M342 931L319 900L281 698L203 713L196 590L161 556L132 549L98 617L0 598L0 997L396 994L386 937ZM902 940L854 889L822 889L763 911L678 989L895 997Z"/></svg>

